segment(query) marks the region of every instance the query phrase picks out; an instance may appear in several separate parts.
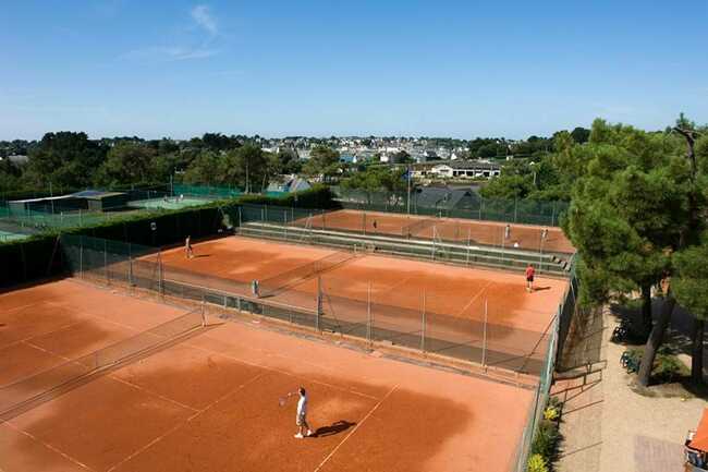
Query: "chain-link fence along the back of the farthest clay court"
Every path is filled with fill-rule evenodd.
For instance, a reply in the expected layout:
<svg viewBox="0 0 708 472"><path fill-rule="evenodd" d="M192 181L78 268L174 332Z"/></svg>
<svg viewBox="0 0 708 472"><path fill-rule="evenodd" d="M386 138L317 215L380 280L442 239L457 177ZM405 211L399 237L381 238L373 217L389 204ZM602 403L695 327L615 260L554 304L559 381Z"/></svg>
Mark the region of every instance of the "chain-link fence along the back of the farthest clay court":
<svg viewBox="0 0 708 472"><path fill-rule="evenodd" d="M466 189L416 187L407 192L368 192L333 187L343 208L403 213L514 223L559 226L567 202L485 198Z"/></svg>

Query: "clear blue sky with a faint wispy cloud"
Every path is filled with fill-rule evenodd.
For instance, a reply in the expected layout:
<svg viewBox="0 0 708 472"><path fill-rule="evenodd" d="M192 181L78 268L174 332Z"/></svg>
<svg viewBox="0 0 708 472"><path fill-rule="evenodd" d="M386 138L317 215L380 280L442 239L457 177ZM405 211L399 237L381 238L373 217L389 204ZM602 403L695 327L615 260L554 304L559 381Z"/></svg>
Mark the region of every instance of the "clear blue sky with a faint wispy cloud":
<svg viewBox="0 0 708 472"><path fill-rule="evenodd" d="M708 2L8 0L0 140L708 122Z"/></svg>

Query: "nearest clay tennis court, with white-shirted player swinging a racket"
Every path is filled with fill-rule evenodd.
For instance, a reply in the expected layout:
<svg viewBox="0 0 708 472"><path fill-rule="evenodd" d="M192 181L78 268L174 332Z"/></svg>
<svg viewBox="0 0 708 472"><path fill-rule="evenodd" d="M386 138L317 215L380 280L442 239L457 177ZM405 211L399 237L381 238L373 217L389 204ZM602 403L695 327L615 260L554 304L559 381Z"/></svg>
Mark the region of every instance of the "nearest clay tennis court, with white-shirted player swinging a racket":
<svg viewBox="0 0 708 472"><path fill-rule="evenodd" d="M0 389L183 312L75 280L2 293ZM1 423L0 470L505 471L514 460L533 390L208 323ZM295 404L278 402L300 385L317 432L302 440Z"/></svg>

